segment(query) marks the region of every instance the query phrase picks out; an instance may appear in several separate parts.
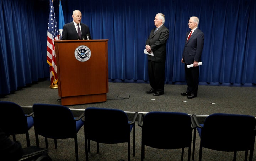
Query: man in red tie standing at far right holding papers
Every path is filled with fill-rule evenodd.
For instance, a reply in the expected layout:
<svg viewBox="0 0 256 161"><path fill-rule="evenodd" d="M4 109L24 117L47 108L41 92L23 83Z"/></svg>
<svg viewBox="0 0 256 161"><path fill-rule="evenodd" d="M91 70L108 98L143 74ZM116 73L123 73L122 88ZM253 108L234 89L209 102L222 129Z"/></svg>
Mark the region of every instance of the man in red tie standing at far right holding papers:
<svg viewBox="0 0 256 161"><path fill-rule="evenodd" d="M198 24L199 19L197 17L190 17L188 27L191 31L186 33L185 46L181 59L181 62L185 63L185 76L187 81L187 91L181 93L181 95L187 96L187 98L195 98L197 96L199 84L198 62L201 62L204 33L198 29ZM189 64L193 64L193 67L188 68L187 65Z"/></svg>

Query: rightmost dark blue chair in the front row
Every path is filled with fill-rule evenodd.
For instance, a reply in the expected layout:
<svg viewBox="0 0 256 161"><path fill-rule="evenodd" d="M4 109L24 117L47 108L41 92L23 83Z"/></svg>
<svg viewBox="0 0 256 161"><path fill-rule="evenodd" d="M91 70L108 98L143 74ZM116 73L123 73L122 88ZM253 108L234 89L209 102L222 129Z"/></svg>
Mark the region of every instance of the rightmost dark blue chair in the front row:
<svg viewBox="0 0 256 161"><path fill-rule="evenodd" d="M200 124L196 115L192 116L200 136L199 161L202 160L203 148L234 152L234 161L237 151L245 151L245 160L247 160L250 150L249 160L252 161L256 132L255 117L214 113L207 116L204 123Z"/></svg>

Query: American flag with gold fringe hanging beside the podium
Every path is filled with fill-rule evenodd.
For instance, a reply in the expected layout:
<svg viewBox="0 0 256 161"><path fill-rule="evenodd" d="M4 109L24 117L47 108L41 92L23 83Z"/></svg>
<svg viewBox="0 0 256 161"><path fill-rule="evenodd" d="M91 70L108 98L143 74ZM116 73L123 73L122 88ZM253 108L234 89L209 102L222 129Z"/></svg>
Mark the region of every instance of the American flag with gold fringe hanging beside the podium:
<svg viewBox="0 0 256 161"><path fill-rule="evenodd" d="M55 56L55 46L54 40L59 40L57 23L55 20L55 13L53 8L53 1L49 0L50 4L50 14L47 30L47 63L50 65L50 79L51 85L57 85L57 67L56 67L56 56Z"/></svg>

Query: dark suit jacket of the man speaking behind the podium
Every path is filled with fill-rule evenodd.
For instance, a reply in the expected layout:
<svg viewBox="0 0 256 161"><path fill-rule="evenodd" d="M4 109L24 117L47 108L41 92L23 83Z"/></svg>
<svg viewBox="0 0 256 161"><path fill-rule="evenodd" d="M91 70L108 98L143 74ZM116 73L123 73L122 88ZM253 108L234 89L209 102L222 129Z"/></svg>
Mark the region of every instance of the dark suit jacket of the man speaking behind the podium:
<svg viewBox="0 0 256 161"><path fill-rule="evenodd" d="M81 32L82 32L81 39L84 36L85 40L87 40L86 34L88 34L89 38L92 39L89 27L83 23L80 23L80 25L81 25ZM78 37L78 33L76 31L76 27L73 21L63 26L62 40L77 40L78 39L77 37Z"/></svg>

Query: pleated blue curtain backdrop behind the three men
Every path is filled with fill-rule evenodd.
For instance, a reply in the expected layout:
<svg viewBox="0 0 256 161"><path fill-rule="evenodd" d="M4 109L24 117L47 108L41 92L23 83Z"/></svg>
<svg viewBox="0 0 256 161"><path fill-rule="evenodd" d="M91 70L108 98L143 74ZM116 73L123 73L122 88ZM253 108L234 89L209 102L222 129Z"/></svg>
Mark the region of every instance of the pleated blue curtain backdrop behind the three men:
<svg viewBox="0 0 256 161"><path fill-rule="evenodd" d="M0 0L0 95L49 78L48 0ZM59 3L53 1L58 24ZM166 84L185 84L181 55L191 16L205 42L201 85L256 84L255 0L62 0L66 23L82 12L93 39L108 39L110 81L147 83L145 41L156 13L165 14ZM49 81L50 85L50 81Z"/></svg>

